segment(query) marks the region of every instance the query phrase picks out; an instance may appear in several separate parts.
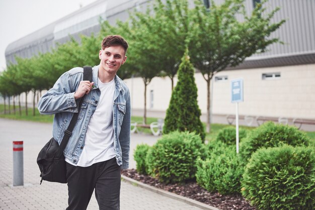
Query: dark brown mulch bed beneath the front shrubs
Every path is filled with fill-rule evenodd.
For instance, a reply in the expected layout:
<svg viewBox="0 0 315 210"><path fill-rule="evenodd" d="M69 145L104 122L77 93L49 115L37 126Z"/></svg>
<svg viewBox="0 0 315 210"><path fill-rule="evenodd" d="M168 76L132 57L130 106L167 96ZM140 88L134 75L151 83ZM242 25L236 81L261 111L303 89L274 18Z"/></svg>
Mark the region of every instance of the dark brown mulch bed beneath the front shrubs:
<svg viewBox="0 0 315 210"><path fill-rule="evenodd" d="M256 208L251 206L241 195L221 195L219 193L211 193L198 186L196 182L190 182L183 185L164 184L150 176L138 174L135 169L123 170L122 174L153 187L174 192L178 195L189 197L222 210L256 210Z"/></svg>

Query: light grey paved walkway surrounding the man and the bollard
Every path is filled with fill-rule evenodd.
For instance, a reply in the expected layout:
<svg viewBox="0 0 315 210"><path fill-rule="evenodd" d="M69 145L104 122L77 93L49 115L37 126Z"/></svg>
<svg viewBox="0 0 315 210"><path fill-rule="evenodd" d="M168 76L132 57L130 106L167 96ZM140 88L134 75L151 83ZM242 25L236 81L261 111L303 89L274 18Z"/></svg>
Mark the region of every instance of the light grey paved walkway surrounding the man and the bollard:
<svg viewBox="0 0 315 210"><path fill-rule="evenodd" d="M66 184L43 181L39 185L39 169L36 158L39 150L51 137L52 125L0 119L0 209L65 209ZM132 134L130 168L137 144L152 145L157 137ZM13 141L24 141L24 186L13 187ZM201 209L152 190L135 186L126 181L121 184L121 209ZM89 210L98 209L93 195Z"/></svg>

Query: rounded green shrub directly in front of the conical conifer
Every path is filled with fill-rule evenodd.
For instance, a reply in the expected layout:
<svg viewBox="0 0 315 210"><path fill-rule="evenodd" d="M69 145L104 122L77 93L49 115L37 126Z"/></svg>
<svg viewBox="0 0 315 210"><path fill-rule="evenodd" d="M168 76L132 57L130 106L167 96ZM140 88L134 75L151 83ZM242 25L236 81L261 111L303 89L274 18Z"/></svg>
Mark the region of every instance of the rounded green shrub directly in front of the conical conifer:
<svg viewBox="0 0 315 210"><path fill-rule="evenodd" d="M205 145L199 135L175 131L163 135L146 157L148 173L165 183L195 178L197 158L205 158Z"/></svg>

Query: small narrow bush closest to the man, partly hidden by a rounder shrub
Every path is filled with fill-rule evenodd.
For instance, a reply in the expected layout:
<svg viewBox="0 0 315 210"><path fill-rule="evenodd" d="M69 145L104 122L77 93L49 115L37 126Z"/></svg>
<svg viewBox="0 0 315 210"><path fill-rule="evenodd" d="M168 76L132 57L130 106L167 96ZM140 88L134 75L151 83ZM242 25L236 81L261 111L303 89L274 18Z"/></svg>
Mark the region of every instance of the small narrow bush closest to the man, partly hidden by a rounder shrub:
<svg viewBox="0 0 315 210"><path fill-rule="evenodd" d="M140 174L147 174L145 158L149 149L150 146L147 144L138 144L134 150L133 158L136 161L137 172Z"/></svg>

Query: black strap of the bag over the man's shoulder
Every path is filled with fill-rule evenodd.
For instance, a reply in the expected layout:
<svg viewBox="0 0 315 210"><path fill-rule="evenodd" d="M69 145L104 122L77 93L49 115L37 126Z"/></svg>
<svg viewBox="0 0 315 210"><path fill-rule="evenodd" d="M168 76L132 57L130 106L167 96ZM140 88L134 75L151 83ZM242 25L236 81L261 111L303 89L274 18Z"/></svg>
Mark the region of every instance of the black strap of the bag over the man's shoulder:
<svg viewBox="0 0 315 210"><path fill-rule="evenodd" d="M84 66L83 67L83 80L89 80L90 82L92 82L92 67L91 66ZM61 140L58 151L56 152L54 157L60 157L63 154L63 150L64 150L65 146L67 145L69 138L72 134L72 131L74 129L74 126L76 124L78 114L80 113L80 109L81 109L81 105L82 105L84 97L85 96L78 99L78 104L79 104L78 105L78 111L77 111L77 113L73 114L68 128L64 131L64 136Z"/></svg>

